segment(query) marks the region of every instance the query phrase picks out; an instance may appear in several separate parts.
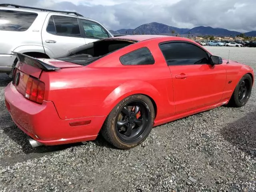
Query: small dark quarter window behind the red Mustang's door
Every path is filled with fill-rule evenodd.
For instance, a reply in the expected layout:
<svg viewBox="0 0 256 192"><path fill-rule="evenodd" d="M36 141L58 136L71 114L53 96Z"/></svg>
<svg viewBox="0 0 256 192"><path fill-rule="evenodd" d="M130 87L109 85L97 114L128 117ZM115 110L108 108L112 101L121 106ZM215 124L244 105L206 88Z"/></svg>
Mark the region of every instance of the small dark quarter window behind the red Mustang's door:
<svg viewBox="0 0 256 192"><path fill-rule="evenodd" d="M152 65L155 60L150 50L143 47L121 56L120 62L123 65Z"/></svg>

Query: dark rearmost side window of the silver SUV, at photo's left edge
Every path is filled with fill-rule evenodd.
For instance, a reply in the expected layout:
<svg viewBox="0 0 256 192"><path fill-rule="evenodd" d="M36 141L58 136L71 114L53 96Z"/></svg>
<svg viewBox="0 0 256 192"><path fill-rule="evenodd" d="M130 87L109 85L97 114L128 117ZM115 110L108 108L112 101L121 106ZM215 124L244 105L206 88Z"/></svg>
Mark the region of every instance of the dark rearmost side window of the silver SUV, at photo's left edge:
<svg viewBox="0 0 256 192"><path fill-rule="evenodd" d="M0 10L0 30L26 31L37 15L33 12Z"/></svg>

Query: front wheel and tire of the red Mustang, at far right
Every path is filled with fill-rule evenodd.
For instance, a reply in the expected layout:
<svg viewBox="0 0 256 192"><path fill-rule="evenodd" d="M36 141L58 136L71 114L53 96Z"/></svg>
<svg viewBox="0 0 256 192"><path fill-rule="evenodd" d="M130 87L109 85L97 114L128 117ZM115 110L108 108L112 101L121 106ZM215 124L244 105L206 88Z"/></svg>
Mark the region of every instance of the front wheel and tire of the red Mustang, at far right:
<svg viewBox="0 0 256 192"><path fill-rule="evenodd" d="M238 84L232 94L230 99L230 106L242 107L244 106L251 95L252 92L252 77L249 74L245 74Z"/></svg>

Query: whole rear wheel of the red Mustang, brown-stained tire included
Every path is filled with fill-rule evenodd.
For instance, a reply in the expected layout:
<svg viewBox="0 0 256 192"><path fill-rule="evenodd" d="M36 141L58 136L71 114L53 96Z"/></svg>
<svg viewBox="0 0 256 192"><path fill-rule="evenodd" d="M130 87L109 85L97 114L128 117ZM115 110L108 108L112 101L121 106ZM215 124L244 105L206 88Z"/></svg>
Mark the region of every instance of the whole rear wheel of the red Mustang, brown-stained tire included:
<svg viewBox="0 0 256 192"><path fill-rule="evenodd" d="M120 149L142 143L154 124L154 106L144 95L128 96L110 112L102 127L102 136Z"/></svg>

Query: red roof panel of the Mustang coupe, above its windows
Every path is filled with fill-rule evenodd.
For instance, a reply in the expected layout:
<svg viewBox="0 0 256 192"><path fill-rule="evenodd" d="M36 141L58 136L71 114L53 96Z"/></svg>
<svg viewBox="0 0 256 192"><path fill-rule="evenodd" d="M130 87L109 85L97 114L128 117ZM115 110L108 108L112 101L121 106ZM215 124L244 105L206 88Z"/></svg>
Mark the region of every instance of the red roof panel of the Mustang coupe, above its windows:
<svg viewBox="0 0 256 192"><path fill-rule="evenodd" d="M167 36L167 35L125 35L125 36L112 37L111 39L145 41L145 40L150 40L150 39L155 39L155 38L169 38L170 40L188 40L188 41L191 41L188 38L176 37L176 36Z"/></svg>

